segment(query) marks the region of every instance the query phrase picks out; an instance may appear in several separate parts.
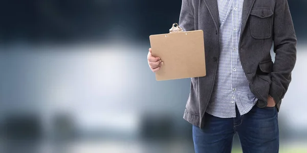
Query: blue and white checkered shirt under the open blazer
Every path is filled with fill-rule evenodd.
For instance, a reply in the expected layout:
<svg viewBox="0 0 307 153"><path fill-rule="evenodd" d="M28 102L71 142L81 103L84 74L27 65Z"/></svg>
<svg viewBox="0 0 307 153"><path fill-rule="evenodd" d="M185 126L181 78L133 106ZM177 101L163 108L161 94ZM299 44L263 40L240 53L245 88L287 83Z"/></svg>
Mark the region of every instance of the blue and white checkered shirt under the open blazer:
<svg viewBox="0 0 307 153"><path fill-rule="evenodd" d="M257 99L239 59L239 37L244 0L217 0L220 21L220 57L212 96L206 112L220 118L248 113Z"/></svg>

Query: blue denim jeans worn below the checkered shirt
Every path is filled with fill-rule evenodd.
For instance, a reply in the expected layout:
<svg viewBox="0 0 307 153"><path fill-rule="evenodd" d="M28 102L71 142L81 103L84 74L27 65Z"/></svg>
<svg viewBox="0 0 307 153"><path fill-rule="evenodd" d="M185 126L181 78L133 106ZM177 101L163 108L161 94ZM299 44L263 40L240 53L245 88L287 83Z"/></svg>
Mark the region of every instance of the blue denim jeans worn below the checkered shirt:
<svg viewBox="0 0 307 153"><path fill-rule="evenodd" d="M243 153L278 153L277 109L254 106L245 115L236 110L235 118L205 114L205 127L193 125L195 153L228 153L237 132Z"/></svg>

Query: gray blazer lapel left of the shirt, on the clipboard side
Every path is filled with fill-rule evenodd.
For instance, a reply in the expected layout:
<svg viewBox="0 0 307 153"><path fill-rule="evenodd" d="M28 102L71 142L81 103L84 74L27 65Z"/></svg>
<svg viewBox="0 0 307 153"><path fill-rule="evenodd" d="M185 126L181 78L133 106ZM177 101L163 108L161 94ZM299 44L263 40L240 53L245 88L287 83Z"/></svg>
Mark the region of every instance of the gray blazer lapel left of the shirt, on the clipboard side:
<svg viewBox="0 0 307 153"><path fill-rule="evenodd" d="M217 6L217 0L204 0L211 17L213 18L215 28L217 31L220 29L220 21L218 21L218 6Z"/></svg>

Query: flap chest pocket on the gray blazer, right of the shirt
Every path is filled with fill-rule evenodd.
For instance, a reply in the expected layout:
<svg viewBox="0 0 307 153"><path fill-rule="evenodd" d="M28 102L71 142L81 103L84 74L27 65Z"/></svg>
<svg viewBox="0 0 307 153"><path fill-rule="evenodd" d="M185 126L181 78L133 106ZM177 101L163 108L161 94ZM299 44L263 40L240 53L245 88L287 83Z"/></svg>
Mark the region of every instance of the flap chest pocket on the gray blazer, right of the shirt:
<svg viewBox="0 0 307 153"><path fill-rule="evenodd" d="M267 39L272 35L272 8L253 8L250 15L251 35L256 39Z"/></svg>

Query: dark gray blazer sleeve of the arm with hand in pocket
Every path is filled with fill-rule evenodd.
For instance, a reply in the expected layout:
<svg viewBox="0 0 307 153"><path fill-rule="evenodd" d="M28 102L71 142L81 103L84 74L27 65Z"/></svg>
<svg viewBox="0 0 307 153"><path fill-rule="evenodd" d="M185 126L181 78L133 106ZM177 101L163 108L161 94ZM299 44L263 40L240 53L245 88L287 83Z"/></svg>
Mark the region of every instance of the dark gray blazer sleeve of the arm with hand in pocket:
<svg viewBox="0 0 307 153"><path fill-rule="evenodd" d="M276 105L286 94L296 63L296 35L287 0L276 0L273 20L275 62L271 72L270 95Z"/></svg>

